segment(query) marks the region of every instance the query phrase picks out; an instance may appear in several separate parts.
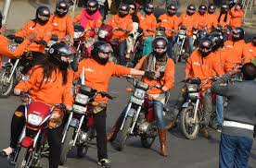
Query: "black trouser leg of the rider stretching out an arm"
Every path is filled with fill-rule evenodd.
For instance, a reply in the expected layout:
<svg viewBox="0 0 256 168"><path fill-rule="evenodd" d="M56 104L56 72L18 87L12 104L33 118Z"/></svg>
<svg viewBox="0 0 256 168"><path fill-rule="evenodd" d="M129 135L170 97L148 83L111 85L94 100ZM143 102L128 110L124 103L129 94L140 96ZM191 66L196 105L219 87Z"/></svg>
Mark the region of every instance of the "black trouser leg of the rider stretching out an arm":
<svg viewBox="0 0 256 168"><path fill-rule="evenodd" d="M108 159L107 153L107 133L106 133L106 114L107 108L94 114L94 123L96 127L96 147L97 159Z"/></svg>

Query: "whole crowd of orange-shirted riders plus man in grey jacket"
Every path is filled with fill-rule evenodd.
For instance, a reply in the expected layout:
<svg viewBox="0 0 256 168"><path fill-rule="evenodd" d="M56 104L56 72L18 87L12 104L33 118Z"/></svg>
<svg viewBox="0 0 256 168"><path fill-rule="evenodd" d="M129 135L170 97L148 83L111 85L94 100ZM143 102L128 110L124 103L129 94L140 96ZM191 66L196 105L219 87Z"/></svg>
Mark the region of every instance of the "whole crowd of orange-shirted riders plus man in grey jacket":
<svg viewBox="0 0 256 168"><path fill-rule="evenodd" d="M63 103L67 111L72 110L73 80L85 73L84 83L95 90L108 91L109 79L112 76L133 75L142 76L141 80L148 85L160 85L160 89L150 89L148 94L153 97L154 113L160 138L160 155L167 156L166 132L177 124L178 114L186 100L183 92L176 104L172 119L168 123L163 119L163 96L174 87L173 44L181 27L186 27L187 54L185 78L217 78L213 84L204 86L204 124L200 132L205 138L210 138L208 127L211 114L216 111L216 129L223 129L220 143L220 168L248 167L252 134L256 126L255 103L249 99L254 95L256 67L251 63L256 56L256 36L251 42L244 41L245 31L242 26L243 9L238 2L223 4L217 8L213 4L197 6L191 4L179 17L179 3L166 3L165 13L156 18L155 6L151 1L127 1L118 5L118 14L106 20L105 1L88 0L83 4L81 12L71 18L68 15L69 4L59 0L53 14L47 6L39 6L35 18L28 21L14 35L0 35L0 54L12 59L18 59L24 52L32 52L34 58L26 79L20 80L14 93L29 92L33 100L49 105ZM0 20L3 16L0 14ZM1 22L0 22L1 23ZM109 41L118 43L117 57L119 64L109 61L113 53L111 44L97 41L89 49L89 55L75 63L74 24L80 24L86 32L84 38L98 39L98 30L108 25L112 28ZM2 28L2 24L0 24ZM158 28L164 28L165 36L156 36ZM193 45L193 30L203 30L198 48ZM2 30L1 30L2 33ZM134 42L138 34L143 33L142 58L134 68L125 67L129 53L133 52ZM56 37L57 43L45 52L47 42ZM66 42L66 37L69 42ZM8 39L19 42L17 48L12 48ZM65 41L65 42L63 42ZM83 72L85 69L85 72ZM238 76L237 73L242 74ZM228 82L231 76L239 78ZM186 86L184 86L186 88ZM53 96L51 93L55 92ZM212 109L211 92L217 94L216 110ZM224 97L228 99L227 112L224 113ZM109 167L107 140L112 141L121 126L122 115L118 118L111 132L106 133L107 103L106 97L96 96L97 105L94 114L96 126L96 145L98 164ZM57 168L61 147L61 131L65 113L56 111L51 117L54 122L48 128L49 167ZM2 156L11 155L18 145L19 134L24 126L24 106L20 105L11 121L10 145L2 150ZM234 141L232 143L231 141ZM232 143L232 145L230 145ZM234 145L236 144L236 145ZM232 153L231 153L232 150Z"/></svg>

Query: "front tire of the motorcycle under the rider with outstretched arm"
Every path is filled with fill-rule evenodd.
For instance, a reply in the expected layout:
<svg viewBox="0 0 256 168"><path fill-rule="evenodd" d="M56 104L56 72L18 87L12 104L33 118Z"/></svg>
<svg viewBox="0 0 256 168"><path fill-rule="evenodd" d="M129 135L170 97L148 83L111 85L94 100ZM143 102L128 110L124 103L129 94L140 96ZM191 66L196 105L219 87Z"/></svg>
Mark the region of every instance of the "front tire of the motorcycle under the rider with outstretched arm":
<svg viewBox="0 0 256 168"><path fill-rule="evenodd" d="M75 128L72 126L70 126L67 131L66 138L61 146L60 160L59 160L60 165L63 165L65 162L67 162L67 155L70 150L70 142L72 141L74 131L75 131Z"/></svg>

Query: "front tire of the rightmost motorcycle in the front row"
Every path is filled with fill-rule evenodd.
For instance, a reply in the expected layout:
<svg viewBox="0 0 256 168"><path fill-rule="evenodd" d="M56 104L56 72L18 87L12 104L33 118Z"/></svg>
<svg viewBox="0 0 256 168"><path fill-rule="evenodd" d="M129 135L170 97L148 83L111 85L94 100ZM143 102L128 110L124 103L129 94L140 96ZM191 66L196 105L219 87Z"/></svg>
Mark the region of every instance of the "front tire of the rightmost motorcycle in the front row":
<svg viewBox="0 0 256 168"><path fill-rule="evenodd" d="M182 132L187 139L194 139L198 136L199 123L198 115L196 117L196 124L189 123L189 119L194 116L194 107L189 106L181 111L181 128ZM189 129L189 130L188 130Z"/></svg>

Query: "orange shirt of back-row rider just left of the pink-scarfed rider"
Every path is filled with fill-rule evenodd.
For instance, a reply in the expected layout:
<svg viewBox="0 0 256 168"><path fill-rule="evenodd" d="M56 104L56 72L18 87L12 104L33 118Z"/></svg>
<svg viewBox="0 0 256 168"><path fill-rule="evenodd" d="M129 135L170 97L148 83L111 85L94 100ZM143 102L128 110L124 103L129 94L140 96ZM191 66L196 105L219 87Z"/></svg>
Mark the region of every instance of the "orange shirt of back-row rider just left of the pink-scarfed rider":
<svg viewBox="0 0 256 168"><path fill-rule="evenodd" d="M73 21L70 16L59 18L57 15L52 15L49 21L53 26L52 33L58 35L58 39L64 39L67 35L70 35L71 39L74 37Z"/></svg>

